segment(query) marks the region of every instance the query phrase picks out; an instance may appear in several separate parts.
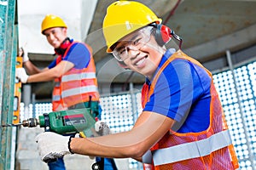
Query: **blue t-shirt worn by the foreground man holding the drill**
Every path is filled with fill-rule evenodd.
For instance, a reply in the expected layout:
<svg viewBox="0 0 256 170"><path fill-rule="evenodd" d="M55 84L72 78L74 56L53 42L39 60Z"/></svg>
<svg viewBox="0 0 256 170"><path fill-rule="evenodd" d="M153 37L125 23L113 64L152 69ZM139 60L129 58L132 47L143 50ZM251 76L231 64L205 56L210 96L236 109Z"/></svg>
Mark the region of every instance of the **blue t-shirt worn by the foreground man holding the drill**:
<svg viewBox="0 0 256 170"><path fill-rule="evenodd" d="M173 53L173 50L166 51L159 69ZM211 82L207 71L200 66L187 59L174 59L160 74L143 111L174 119L177 123L173 129L178 133L206 130L210 122ZM146 79L146 83L150 86L151 82Z"/></svg>

